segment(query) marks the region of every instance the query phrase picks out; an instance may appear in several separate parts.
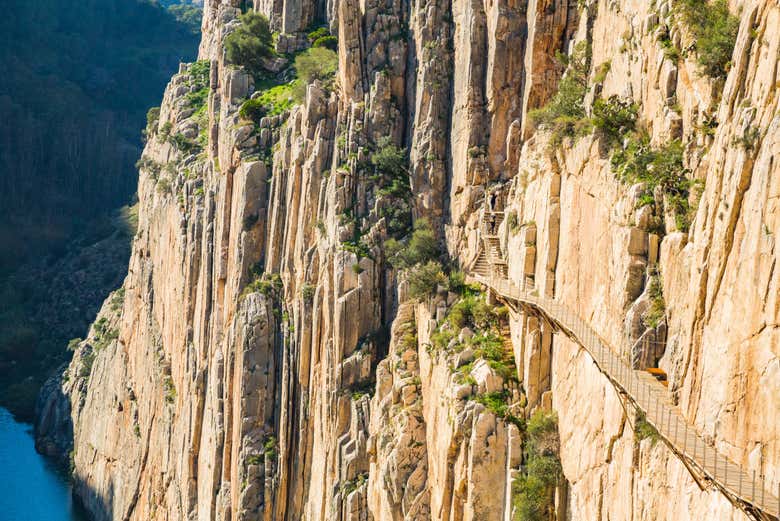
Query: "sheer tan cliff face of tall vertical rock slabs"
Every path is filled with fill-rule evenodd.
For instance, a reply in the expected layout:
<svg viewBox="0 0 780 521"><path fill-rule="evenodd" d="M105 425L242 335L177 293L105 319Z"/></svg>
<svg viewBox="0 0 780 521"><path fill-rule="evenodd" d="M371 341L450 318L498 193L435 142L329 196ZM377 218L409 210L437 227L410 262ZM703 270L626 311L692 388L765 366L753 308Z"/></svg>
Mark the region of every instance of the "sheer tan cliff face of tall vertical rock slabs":
<svg viewBox="0 0 780 521"><path fill-rule="evenodd" d="M95 519L510 520L537 409L558 414L552 518L747 519L663 443L638 441L588 355L533 313L510 310L512 374L431 348L456 298L412 300L384 257L398 201L358 174L382 138L408 148L413 215L455 262L477 259L497 194L509 277L534 277L638 368L660 363L688 421L777 487L775 2L741 4L722 94L693 53L664 52L667 27L671 45L691 37L663 1L255 2L284 45L317 17L339 41L335 88L307 86L257 128L238 116L253 81L222 46L242 2L205 4L207 121L182 66L141 163L123 299L41 398L39 445L67 454L72 432ZM684 143L703 181L689 228L668 195L647 203L619 180L598 132L560 142L531 124L563 73L556 52L579 42L588 113L630 99L650 143ZM203 150L170 135L203 135ZM638 338L653 347L632 350Z"/></svg>

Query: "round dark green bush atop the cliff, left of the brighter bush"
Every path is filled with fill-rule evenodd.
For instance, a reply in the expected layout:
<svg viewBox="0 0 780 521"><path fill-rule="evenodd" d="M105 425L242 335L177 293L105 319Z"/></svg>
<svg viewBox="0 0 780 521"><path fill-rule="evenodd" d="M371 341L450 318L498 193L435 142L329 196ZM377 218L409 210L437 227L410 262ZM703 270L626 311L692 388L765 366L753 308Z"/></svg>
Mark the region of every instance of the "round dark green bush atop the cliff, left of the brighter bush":
<svg viewBox="0 0 780 521"><path fill-rule="evenodd" d="M228 62L243 66L254 76L265 71L265 60L274 56L268 19L255 11L239 17L241 25L225 38Z"/></svg>

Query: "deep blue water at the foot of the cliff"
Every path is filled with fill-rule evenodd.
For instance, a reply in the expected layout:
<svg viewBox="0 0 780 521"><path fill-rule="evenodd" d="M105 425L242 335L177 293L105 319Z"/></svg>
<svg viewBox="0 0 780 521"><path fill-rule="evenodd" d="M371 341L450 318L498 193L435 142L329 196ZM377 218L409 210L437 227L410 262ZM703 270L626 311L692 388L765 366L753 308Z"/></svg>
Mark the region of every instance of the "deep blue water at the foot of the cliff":
<svg viewBox="0 0 780 521"><path fill-rule="evenodd" d="M0 521L87 521L66 472L35 452L32 427L0 408Z"/></svg>

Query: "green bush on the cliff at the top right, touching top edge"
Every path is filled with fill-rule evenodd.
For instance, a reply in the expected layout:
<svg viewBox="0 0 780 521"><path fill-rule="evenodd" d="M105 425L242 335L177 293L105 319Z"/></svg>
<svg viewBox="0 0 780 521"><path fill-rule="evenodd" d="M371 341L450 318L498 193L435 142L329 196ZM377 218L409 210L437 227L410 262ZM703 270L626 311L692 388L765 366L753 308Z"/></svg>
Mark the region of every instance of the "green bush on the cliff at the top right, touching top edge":
<svg viewBox="0 0 780 521"><path fill-rule="evenodd" d="M691 31L702 71L713 78L725 78L739 31L739 18L731 14L728 2L678 0L674 13Z"/></svg>

